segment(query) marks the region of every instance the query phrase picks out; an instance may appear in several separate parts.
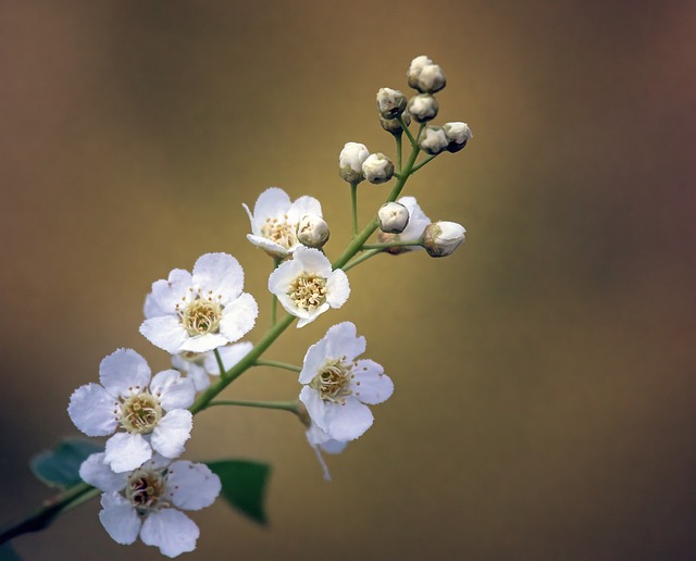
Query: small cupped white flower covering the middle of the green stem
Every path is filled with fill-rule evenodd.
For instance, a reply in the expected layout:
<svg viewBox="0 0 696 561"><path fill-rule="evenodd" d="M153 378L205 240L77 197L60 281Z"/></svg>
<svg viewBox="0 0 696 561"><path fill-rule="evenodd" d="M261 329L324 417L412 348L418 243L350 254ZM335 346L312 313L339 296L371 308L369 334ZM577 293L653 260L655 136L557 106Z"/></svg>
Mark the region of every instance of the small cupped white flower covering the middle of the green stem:
<svg viewBox="0 0 696 561"><path fill-rule="evenodd" d="M330 308L340 308L350 296L348 276L318 249L299 247L290 261L281 263L269 277L269 290L283 308L299 317L298 327L316 320Z"/></svg>

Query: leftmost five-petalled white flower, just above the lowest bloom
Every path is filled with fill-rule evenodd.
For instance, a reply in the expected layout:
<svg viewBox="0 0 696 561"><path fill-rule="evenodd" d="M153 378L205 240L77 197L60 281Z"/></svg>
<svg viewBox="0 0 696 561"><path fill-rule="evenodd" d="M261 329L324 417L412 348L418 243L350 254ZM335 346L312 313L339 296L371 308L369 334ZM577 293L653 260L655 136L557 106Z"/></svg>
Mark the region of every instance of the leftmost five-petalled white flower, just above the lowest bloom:
<svg viewBox="0 0 696 561"><path fill-rule="evenodd" d="M87 436L113 435L104 461L114 472L135 470L152 450L176 458L189 438L194 383L175 370L151 379L150 373L137 352L119 349L99 365L101 385L82 386L70 398L67 413L77 428Z"/></svg>

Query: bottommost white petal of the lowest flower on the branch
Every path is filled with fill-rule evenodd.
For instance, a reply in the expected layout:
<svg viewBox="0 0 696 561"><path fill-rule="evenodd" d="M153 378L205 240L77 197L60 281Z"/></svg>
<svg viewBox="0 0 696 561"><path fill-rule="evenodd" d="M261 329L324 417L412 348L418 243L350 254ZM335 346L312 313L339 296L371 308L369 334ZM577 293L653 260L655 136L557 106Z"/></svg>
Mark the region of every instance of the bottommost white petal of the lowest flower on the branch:
<svg viewBox="0 0 696 561"><path fill-rule="evenodd" d="M200 531L194 521L175 509L151 513L140 531L142 543L159 547L166 557L194 551L199 535Z"/></svg>

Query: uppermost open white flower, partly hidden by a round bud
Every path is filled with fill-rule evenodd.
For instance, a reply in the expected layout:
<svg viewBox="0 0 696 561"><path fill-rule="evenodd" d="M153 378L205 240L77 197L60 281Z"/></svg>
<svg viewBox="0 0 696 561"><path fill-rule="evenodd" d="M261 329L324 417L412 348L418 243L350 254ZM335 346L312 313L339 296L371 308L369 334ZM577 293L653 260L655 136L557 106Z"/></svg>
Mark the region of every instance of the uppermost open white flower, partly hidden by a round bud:
<svg viewBox="0 0 696 561"><path fill-rule="evenodd" d="M278 187L271 187L259 196L253 214L249 207L243 207L251 222L247 239L277 259L285 259L300 245L297 225L304 214L322 215L322 205L313 197L304 196L290 202L289 196Z"/></svg>

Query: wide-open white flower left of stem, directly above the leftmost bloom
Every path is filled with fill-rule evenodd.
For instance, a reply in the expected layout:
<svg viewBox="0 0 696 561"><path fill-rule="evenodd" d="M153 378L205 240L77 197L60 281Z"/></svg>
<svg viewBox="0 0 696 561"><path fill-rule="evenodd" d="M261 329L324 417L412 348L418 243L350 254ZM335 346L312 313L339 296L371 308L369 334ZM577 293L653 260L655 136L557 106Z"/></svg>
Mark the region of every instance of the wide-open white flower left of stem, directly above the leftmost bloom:
<svg viewBox="0 0 696 561"><path fill-rule="evenodd" d="M152 283L140 333L171 354L206 352L236 341L259 314L256 300L243 287L244 270L235 258L206 253L192 274L175 269L169 279Z"/></svg>

